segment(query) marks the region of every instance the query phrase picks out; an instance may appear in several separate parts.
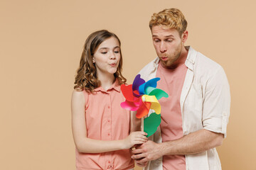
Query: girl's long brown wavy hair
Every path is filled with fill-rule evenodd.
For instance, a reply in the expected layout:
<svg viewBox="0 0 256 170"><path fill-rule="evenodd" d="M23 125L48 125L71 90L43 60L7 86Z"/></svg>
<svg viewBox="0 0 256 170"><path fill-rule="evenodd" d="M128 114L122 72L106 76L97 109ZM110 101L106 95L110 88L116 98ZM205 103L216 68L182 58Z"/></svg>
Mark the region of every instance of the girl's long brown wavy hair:
<svg viewBox="0 0 256 170"><path fill-rule="evenodd" d="M92 62L92 57L95 50L97 50L97 47L99 47L103 41L112 37L117 38L120 47L120 61L119 66L117 67L117 72L114 73L114 77L118 79L120 85L127 81L127 79L122 76L122 52L119 38L117 35L110 33L107 30L98 30L90 34L85 41L80 59L80 66L75 76L74 89L78 91L85 90L87 93L92 93L94 89L100 86L100 81L97 79L96 74L97 70L95 64Z"/></svg>

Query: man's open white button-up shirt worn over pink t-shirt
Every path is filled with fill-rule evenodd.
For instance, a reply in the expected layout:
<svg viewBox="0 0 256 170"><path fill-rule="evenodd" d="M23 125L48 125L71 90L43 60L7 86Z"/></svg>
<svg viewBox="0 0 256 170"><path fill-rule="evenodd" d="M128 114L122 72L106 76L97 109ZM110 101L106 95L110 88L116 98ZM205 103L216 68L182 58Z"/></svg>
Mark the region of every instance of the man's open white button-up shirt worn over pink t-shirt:
<svg viewBox="0 0 256 170"><path fill-rule="evenodd" d="M223 133L226 137L230 115L230 87L223 68L200 52L188 50L186 78L181 91L181 117L183 135L206 129ZM148 81L156 77L159 58L147 64L140 72ZM171 99L171 98L170 98ZM170 120L171 121L171 120ZM161 142L160 126L149 140ZM199 154L185 155L186 170L218 170L220 159L215 148ZM161 170L162 157L151 161L146 170Z"/></svg>

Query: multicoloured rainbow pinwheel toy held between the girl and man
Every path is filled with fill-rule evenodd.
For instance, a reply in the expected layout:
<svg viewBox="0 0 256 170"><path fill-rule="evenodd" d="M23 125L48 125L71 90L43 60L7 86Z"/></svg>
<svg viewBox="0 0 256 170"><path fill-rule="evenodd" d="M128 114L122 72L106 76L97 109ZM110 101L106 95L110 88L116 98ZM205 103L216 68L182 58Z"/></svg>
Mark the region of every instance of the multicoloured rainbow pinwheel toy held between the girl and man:
<svg viewBox="0 0 256 170"><path fill-rule="evenodd" d="M142 131L148 134L146 137L153 135L161 123L161 106L158 100L169 96L165 91L156 89L159 80L160 78L156 77L144 81L138 74L132 84L121 85L122 94L126 99L121 103L121 107L129 111L137 111L136 117L142 118ZM144 119L150 109L154 112Z"/></svg>

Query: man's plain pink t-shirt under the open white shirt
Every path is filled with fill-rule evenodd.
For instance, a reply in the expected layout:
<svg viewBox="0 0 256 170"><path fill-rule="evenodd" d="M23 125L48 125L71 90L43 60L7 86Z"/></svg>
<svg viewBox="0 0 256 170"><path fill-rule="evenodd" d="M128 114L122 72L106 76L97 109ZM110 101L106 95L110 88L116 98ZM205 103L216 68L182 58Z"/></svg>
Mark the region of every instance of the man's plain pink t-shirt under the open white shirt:
<svg viewBox="0 0 256 170"><path fill-rule="evenodd" d="M156 77L161 78L157 88L166 91L169 98L161 98L161 137L163 142L183 137L180 97L186 77L187 67L179 65L176 69L165 69L159 62ZM163 169L186 169L184 155L164 155Z"/></svg>

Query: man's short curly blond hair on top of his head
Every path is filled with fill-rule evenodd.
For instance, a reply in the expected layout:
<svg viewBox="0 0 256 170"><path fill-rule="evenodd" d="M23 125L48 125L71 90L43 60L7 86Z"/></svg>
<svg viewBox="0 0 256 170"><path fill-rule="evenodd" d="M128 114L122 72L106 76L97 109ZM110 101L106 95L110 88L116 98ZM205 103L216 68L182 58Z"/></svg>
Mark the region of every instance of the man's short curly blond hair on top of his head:
<svg viewBox="0 0 256 170"><path fill-rule="evenodd" d="M160 11L159 13L154 13L151 16L151 21L149 21L149 28L152 30L153 26L165 26L167 28L175 28L178 33L182 33L186 30L188 23L177 8L169 8Z"/></svg>

